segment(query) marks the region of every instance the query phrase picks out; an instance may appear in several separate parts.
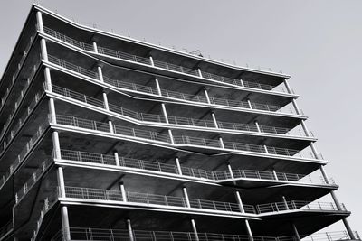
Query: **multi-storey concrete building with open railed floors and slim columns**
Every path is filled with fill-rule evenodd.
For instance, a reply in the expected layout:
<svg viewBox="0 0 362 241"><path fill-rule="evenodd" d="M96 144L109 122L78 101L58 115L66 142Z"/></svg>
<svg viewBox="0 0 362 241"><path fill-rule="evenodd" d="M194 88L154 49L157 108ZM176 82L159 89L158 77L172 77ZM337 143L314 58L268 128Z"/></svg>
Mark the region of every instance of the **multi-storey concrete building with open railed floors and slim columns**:
<svg viewBox="0 0 362 241"><path fill-rule="evenodd" d="M0 82L0 240L300 240L338 221L314 238L359 239L289 78L33 5Z"/></svg>

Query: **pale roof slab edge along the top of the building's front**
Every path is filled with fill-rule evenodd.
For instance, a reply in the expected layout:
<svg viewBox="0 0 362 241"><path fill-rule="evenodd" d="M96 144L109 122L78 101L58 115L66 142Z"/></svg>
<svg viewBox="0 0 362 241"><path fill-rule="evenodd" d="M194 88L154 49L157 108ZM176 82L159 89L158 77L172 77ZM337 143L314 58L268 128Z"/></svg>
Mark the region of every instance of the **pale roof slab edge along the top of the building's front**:
<svg viewBox="0 0 362 241"><path fill-rule="evenodd" d="M39 10L39 11L41 11L43 13L50 14L53 17L56 17L56 18L66 22L66 23L70 23L70 24L72 24L73 26L75 26L77 28L80 28L80 29L83 29L83 30L86 30L86 31L90 31L90 32L97 32L97 33L100 33L100 34L105 34L105 35L108 35L108 36L113 37L113 38L118 38L119 40L122 40L122 41L133 42L135 44L143 45L143 46L153 48L153 49L157 49L157 50L160 50L160 51L168 51L168 52L173 53L173 54L182 55L182 56L185 56L187 58L194 59L194 60L205 61L205 62L208 62L208 63L211 63L211 64L216 64L216 65L223 66L225 68L230 68L230 69L233 69L233 70L249 71L249 72L263 74L263 75L270 75L270 76L280 77L280 78L284 78L284 79L290 79L291 78L291 75L289 75L289 74L284 74L284 73L279 73L279 72L269 71L269 70L258 70L258 69L253 69L253 68L249 68L249 67L233 65L233 64L230 64L230 63L224 63L224 62L218 61L218 60L211 60L211 59L207 59L205 57L197 56L197 55L194 55L194 54L191 54L191 53L188 53L188 52L177 51L177 50L165 47L165 46L159 46L159 45L154 44L154 43L144 42L144 41L140 41L140 40L137 40L137 39L133 39L131 37L122 36L122 35L114 33L114 32L107 32L107 31L103 31L103 30L100 30L100 29L95 29L95 28L92 28L90 26L87 26L87 25L84 25L84 24L81 24L81 23L76 23L76 22L68 19L67 17L62 16L61 14L56 14L56 13L52 12L52 10L47 9L47 8L43 7L42 5L33 4L33 8L36 9L36 10Z"/></svg>

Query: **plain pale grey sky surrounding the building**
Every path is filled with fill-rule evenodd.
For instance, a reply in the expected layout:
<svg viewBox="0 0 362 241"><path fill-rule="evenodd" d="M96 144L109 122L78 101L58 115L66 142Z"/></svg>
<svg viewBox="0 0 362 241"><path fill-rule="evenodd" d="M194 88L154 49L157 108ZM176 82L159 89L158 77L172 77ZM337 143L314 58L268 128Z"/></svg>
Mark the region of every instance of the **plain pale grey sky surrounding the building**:
<svg viewBox="0 0 362 241"><path fill-rule="evenodd" d="M41 5L79 23L176 50L200 50L214 60L282 70L316 146L329 161L340 202L362 232L360 142L362 119L362 1L272 0L43 0ZM0 8L0 73L33 1ZM329 230L341 230L335 225Z"/></svg>

